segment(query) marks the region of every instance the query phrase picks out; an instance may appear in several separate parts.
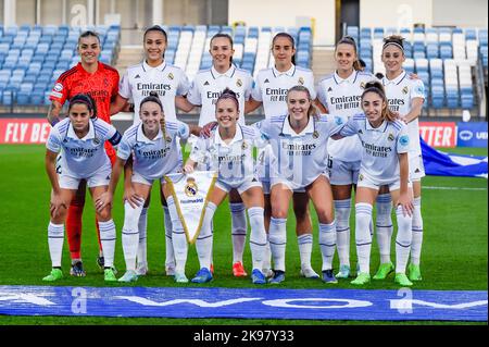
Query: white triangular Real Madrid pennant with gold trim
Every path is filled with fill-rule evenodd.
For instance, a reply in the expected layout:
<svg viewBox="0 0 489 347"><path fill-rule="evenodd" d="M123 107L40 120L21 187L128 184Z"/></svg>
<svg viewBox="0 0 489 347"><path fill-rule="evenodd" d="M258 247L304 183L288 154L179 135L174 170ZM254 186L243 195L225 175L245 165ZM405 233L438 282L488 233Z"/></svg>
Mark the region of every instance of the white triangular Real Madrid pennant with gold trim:
<svg viewBox="0 0 489 347"><path fill-rule="evenodd" d="M189 175L174 173L164 176L175 200L175 207L184 226L187 240L193 244L202 227L209 197L214 188L217 173L195 171Z"/></svg>

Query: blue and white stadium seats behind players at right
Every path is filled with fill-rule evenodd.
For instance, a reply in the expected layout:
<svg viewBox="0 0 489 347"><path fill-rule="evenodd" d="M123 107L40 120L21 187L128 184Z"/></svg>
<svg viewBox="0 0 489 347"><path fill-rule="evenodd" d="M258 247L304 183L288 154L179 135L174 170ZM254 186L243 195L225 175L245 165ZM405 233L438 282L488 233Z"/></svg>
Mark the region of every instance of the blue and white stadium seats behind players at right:
<svg viewBox="0 0 489 347"><path fill-rule="evenodd" d="M405 38L404 67L417 74L427 87L425 106L435 110L476 107L474 70L480 58L487 80L487 29L415 27L397 30L348 26L346 30L346 35L356 40L366 71L383 74L383 39L392 34Z"/></svg>

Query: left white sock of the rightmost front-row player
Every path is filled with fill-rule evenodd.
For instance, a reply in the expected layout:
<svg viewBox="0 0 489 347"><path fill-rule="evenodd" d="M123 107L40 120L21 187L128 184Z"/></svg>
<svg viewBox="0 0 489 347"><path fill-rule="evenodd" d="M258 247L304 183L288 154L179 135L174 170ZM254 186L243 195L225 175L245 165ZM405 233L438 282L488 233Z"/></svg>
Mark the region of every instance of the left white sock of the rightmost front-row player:
<svg viewBox="0 0 489 347"><path fill-rule="evenodd" d="M355 243L360 272L371 273L372 235L369 224L372 221L372 205L355 203Z"/></svg>

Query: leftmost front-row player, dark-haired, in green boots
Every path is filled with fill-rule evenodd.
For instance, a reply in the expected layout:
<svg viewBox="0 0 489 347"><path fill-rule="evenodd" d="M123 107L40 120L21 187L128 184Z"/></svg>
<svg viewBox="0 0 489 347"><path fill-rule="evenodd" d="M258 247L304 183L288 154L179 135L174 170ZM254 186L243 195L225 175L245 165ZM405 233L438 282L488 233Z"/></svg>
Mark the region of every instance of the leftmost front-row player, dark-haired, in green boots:
<svg viewBox="0 0 489 347"><path fill-rule="evenodd" d="M82 179L87 181L93 201L106 191L111 176L111 162L103 149L105 140L113 146L121 140L116 128L97 117L90 96L78 94L70 100L68 116L59 122L46 142L46 171L52 186L48 225L51 273L42 281L63 277L61 256L64 240L66 209L74 199ZM58 154L63 150L60 163ZM97 209L104 263L104 280L116 281L114 264L115 225L109 207Z"/></svg>

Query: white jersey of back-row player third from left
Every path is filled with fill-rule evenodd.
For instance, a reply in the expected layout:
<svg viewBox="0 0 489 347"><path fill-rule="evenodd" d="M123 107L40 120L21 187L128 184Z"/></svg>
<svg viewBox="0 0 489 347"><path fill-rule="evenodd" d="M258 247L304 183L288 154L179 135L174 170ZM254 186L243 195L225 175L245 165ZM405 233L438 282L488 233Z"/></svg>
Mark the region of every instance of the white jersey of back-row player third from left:
<svg viewBox="0 0 489 347"><path fill-rule="evenodd" d="M225 88L236 92L239 102L239 124L244 125L244 101L250 98L253 78L246 70L231 65L224 74L214 66L197 73L192 80L187 100L201 106L199 126L215 122L215 103Z"/></svg>

